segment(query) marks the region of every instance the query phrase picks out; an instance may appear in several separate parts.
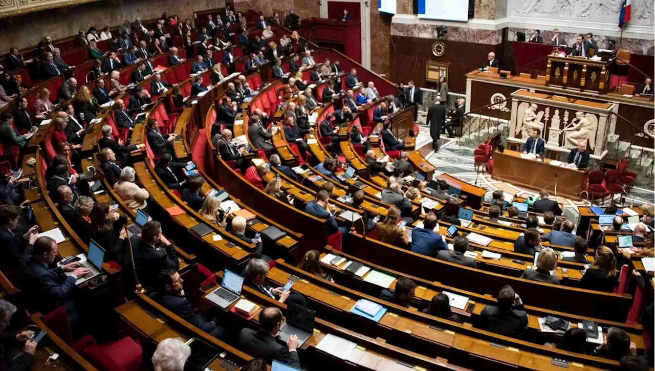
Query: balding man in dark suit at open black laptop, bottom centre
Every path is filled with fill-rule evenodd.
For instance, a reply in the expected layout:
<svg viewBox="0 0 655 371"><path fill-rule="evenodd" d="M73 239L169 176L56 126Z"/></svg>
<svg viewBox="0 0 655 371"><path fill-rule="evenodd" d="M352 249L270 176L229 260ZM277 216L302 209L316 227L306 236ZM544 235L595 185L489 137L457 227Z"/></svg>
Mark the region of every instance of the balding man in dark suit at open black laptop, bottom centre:
<svg viewBox="0 0 655 371"><path fill-rule="evenodd" d="M253 357L264 357L268 362L275 360L300 368L298 338L295 335L289 336L285 347L276 340L280 328L282 311L276 307L267 307L259 313L259 330L244 328L239 332L240 348Z"/></svg>

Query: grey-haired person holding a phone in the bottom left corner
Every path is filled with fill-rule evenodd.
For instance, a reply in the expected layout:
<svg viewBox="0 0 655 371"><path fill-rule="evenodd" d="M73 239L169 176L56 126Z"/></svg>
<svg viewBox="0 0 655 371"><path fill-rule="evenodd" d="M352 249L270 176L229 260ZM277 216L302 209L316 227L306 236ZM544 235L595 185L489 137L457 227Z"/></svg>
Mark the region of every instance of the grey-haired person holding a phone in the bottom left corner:
<svg viewBox="0 0 655 371"><path fill-rule="evenodd" d="M28 370L34 361L34 351L37 343L29 338L31 331L5 332L11 321L12 315L16 313L16 305L0 299L0 367L3 370L22 371ZM15 357L10 357L13 347L21 346L23 351Z"/></svg>

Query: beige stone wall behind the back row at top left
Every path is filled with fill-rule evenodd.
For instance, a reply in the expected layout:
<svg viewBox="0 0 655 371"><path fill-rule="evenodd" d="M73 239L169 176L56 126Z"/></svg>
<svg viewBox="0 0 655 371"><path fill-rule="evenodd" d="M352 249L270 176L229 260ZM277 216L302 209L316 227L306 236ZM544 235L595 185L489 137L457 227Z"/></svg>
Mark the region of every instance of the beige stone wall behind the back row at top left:
<svg viewBox="0 0 655 371"><path fill-rule="evenodd" d="M117 26L124 19L156 18L164 10L182 19L191 18L195 10L223 6L225 0L117 0L33 12L0 22L0 53L9 52L11 46L22 49L36 45L43 35L60 39L90 26L102 29L105 25Z"/></svg>

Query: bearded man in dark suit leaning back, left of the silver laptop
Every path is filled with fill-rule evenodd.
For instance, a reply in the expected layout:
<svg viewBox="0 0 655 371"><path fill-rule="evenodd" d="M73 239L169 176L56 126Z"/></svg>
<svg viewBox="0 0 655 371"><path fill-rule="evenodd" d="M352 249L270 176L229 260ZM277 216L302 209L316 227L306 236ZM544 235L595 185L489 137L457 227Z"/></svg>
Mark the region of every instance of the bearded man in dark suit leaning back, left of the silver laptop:
<svg viewBox="0 0 655 371"><path fill-rule="evenodd" d="M225 334L225 329L218 326L215 319L210 321L208 313L195 313L191 302L184 296L184 280L179 277L179 273L173 268L164 268L157 274L157 294L155 298L161 305L169 311L172 311L181 319L193 324L200 330L208 334L221 338Z"/></svg>

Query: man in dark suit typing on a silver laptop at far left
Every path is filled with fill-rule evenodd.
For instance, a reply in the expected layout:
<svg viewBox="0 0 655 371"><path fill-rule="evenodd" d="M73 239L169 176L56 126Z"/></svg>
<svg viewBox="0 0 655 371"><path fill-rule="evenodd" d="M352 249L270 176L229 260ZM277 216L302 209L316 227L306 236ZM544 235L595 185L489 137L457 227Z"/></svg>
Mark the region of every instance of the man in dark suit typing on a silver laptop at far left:
<svg viewBox="0 0 655 371"><path fill-rule="evenodd" d="M71 323L77 323L77 305L73 294L77 290L75 281L88 273L79 262L50 269L50 264L58 256L54 239L39 237L33 246L33 255L26 262L20 288L26 296L28 309L49 313L57 307L64 307ZM71 272L71 275L64 275Z"/></svg>

